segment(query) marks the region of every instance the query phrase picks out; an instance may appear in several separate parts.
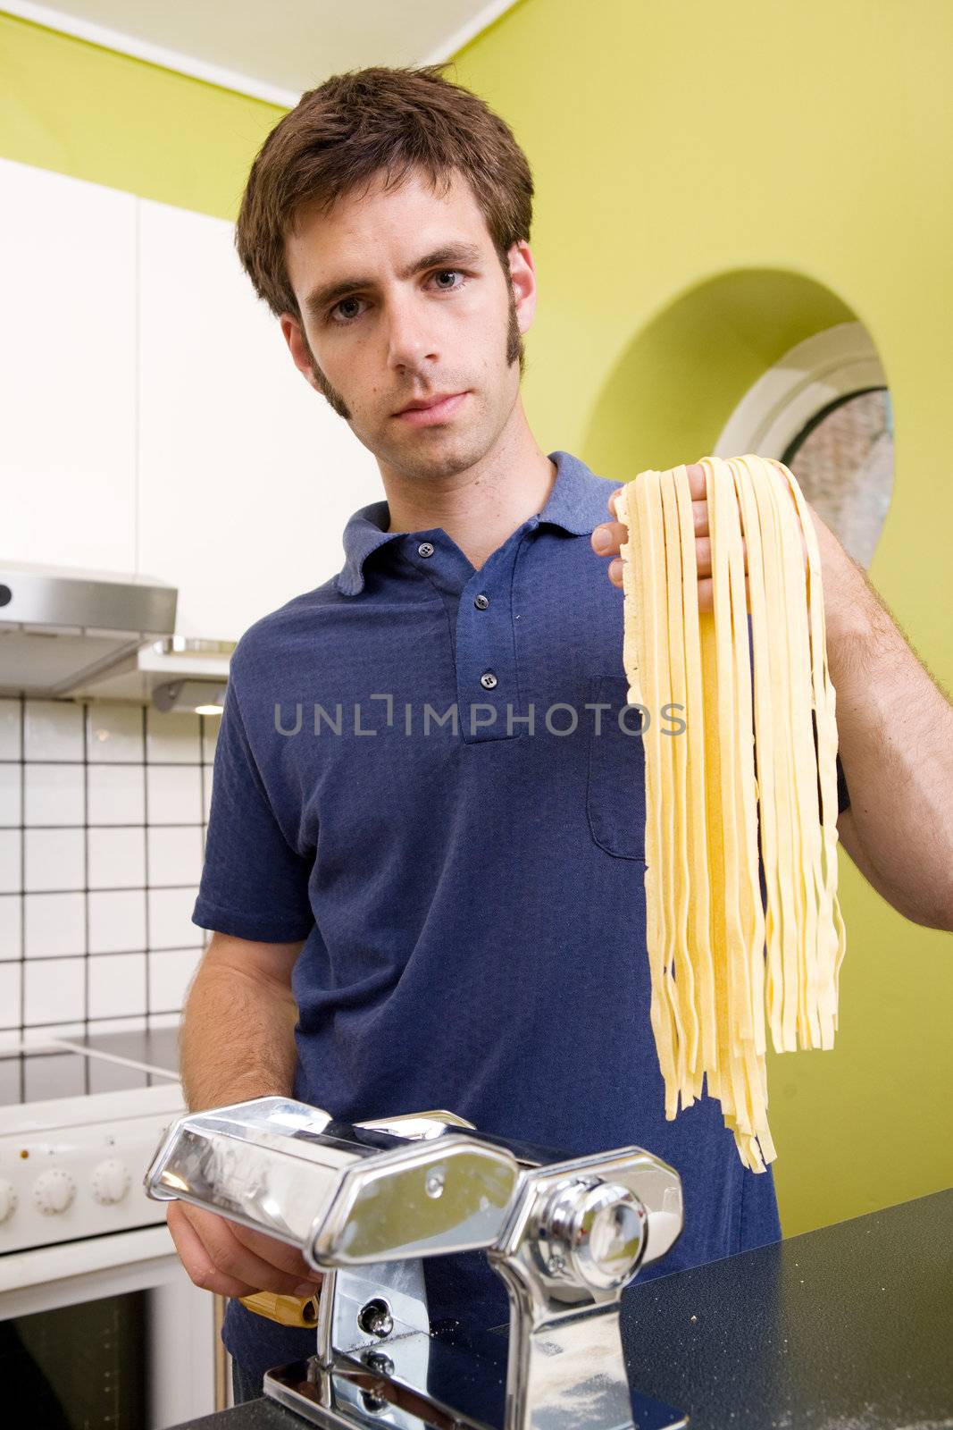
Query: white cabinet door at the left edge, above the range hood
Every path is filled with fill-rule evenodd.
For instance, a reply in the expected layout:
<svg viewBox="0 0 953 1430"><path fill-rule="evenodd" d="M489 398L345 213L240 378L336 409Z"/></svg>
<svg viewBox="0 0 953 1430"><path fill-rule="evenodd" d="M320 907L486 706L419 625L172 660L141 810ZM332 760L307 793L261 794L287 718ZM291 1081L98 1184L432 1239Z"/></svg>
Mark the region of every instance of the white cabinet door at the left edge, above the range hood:
<svg viewBox="0 0 953 1430"><path fill-rule="evenodd" d="M136 565L136 199L0 159L0 559Z"/></svg>

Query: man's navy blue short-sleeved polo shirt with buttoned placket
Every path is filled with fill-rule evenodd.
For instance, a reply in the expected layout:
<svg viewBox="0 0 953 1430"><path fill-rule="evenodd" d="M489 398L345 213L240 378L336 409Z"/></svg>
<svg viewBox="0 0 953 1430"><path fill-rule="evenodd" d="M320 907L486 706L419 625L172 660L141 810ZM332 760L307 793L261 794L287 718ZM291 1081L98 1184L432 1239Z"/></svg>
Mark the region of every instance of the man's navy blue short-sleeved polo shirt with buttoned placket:
<svg viewBox="0 0 953 1430"><path fill-rule="evenodd" d="M360 1121L449 1108L567 1154L637 1144L682 1175L647 1280L780 1238L770 1167L717 1101L664 1117L649 1020L644 764L623 593L590 533L619 485L569 452L476 571L439 526L344 529L343 571L231 658L193 919L304 940L294 1094ZM634 725L634 732L630 726ZM482 1253L426 1261L431 1317L507 1320ZM231 1301L249 1370L313 1350Z"/></svg>

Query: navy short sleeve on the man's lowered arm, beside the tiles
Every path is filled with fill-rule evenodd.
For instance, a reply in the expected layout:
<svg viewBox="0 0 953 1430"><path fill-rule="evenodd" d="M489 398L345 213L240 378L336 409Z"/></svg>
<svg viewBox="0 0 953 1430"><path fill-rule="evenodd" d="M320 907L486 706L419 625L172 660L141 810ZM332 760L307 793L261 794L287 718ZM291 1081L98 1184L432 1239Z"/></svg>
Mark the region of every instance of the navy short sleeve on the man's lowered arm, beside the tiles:
<svg viewBox="0 0 953 1430"><path fill-rule="evenodd" d="M286 839L261 779L239 706L226 686L211 774L211 808L199 898L200 928L284 944L307 938L314 924L310 861Z"/></svg>

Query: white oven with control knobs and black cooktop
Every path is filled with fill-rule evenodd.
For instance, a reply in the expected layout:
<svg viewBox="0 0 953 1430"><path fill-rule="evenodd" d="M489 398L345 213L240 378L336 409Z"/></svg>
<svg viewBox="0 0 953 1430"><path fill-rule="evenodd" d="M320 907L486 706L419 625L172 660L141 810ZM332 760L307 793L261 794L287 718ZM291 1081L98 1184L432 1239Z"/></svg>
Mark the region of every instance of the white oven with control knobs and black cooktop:
<svg viewBox="0 0 953 1430"><path fill-rule="evenodd" d="M169 1030L0 1048L11 1424L166 1430L216 1409L214 1300L186 1276L164 1207L143 1190L183 1111L174 1067Z"/></svg>

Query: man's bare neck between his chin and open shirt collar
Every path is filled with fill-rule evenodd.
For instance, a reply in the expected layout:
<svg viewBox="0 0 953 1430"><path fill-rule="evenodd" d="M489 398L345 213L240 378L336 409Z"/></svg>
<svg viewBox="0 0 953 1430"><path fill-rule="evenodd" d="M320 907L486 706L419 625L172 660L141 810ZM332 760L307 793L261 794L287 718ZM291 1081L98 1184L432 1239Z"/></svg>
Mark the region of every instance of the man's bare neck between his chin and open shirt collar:
<svg viewBox="0 0 953 1430"><path fill-rule="evenodd" d="M540 450L523 416L466 472L427 480L389 469L381 479L390 509L387 531L440 526L479 571L524 521L543 511L556 482L556 463Z"/></svg>

